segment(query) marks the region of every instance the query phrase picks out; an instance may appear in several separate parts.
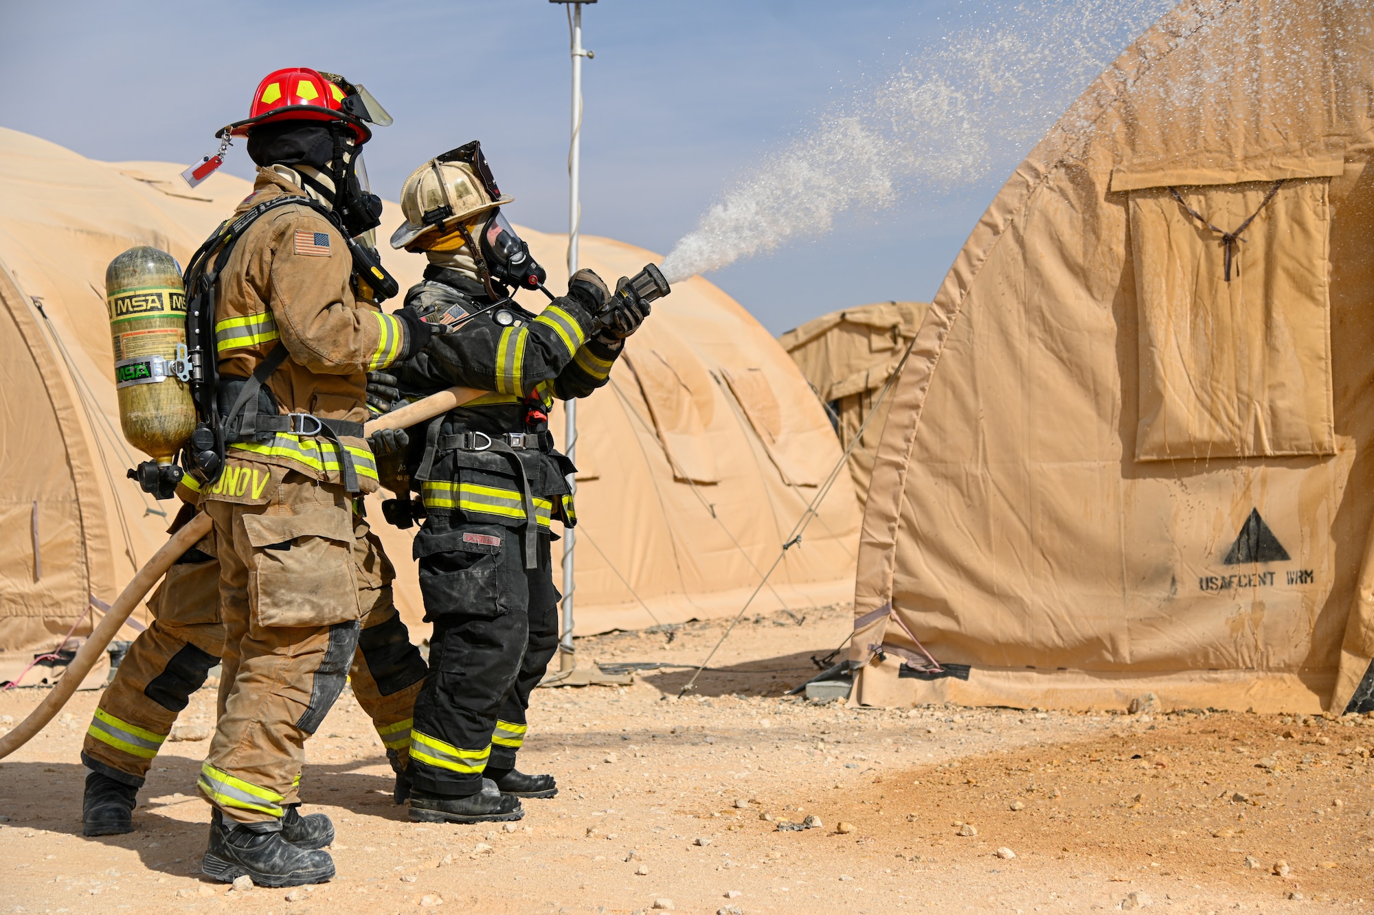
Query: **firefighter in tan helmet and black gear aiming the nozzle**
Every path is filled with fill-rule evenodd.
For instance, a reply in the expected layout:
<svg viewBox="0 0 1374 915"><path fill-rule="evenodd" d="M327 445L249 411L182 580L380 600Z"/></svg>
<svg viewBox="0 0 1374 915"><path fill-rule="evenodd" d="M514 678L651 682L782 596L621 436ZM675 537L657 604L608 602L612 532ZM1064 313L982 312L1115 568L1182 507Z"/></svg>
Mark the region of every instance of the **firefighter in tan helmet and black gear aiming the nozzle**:
<svg viewBox="0 0 1374 915"><path fill-rule="evenodd" d="M425 518L415 555L434 632L411 730L412 820L515 820L521 797L558 793L551 775L515 768L530 690L558 644L551 523L576 522L574 467L554 448L548 411L605 385L649 313L633 295L613 305L591 271L539 313L517 305L510 290L543 290L544 271L500 213L510 201L469 143L407 179L407 221L392 236L429 260L407 306L451 332L374 374L370 403L385 409L451 385L491 392L409 434L372 438L378 455L407 451L420 495L390 503L389 519Z"/></svg>

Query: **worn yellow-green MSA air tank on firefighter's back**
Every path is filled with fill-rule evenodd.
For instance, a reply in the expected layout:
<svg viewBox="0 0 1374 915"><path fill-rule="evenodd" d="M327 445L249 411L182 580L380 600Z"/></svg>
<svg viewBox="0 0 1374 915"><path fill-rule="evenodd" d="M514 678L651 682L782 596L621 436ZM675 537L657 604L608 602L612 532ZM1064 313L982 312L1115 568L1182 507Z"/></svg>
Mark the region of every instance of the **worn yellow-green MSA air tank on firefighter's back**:
<svg viewBox="0 0 1374 915"><path fill-rule="evenodd" d="M166 251L131 247L106 268L104 294L120 426L131 445L168 467L195 430L181 268Z"/></svg>

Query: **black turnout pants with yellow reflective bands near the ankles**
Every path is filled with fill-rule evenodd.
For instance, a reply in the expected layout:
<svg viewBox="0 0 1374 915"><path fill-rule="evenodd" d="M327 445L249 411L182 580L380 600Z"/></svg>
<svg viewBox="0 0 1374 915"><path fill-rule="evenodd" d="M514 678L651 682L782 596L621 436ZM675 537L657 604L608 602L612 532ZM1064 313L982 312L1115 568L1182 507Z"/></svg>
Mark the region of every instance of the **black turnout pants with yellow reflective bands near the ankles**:
<svg viewBox="0 0 1374 915"><path fill-rule="evenodd" d="M482 773L515 768L529 694L558 648L550 536L525 569L523 537L499 525L431 515L415 537L430 676L415 701L411 782L445 795L475 794Z"/></svg>

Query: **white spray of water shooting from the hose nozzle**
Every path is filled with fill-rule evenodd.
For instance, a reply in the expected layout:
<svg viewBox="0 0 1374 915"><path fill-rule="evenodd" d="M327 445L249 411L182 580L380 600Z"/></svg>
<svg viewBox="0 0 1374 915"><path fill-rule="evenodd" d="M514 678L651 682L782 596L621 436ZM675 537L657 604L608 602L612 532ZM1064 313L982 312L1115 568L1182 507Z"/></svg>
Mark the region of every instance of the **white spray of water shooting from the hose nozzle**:
<svg viewBox="0 0 1374 915"><path fill-rule="evenodd" d="M1014 166L1079 92L1173 0L1050 0L947 36L822 114L727 187L664 260L679 282L835 218L947 195Z"/></svg>

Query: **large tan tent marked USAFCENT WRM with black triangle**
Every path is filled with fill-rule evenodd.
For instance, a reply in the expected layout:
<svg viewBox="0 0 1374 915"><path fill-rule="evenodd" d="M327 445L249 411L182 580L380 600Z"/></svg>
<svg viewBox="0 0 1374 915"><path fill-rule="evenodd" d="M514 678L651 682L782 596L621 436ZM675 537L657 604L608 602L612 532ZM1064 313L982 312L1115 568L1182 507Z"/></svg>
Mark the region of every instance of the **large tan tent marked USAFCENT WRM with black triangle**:
<svg viewBox="0 0 1374 915"><path fill-rule="evenodd" d="M896 389L856 702L1347 708L1374 657L1371 33L1370 4L1189 0L1015 169Z"/></svg>

